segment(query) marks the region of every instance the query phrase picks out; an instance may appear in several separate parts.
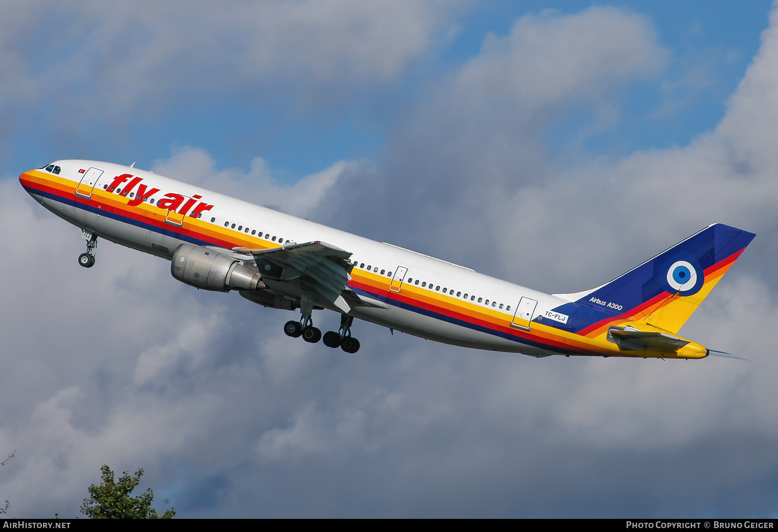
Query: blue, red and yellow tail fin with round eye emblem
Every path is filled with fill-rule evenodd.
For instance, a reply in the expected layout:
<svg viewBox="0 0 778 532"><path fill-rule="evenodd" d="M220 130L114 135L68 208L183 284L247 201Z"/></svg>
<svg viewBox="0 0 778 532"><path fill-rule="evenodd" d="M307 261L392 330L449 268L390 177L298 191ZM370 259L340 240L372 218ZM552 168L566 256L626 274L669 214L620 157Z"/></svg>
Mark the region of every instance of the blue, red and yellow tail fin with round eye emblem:
<svg viewBox="0 0 778 532"><path fill-rule="evenodd" d="M615 318L677 333L754 236L716 223L599 288L560 296L582 311L581 334Z"/></svg>

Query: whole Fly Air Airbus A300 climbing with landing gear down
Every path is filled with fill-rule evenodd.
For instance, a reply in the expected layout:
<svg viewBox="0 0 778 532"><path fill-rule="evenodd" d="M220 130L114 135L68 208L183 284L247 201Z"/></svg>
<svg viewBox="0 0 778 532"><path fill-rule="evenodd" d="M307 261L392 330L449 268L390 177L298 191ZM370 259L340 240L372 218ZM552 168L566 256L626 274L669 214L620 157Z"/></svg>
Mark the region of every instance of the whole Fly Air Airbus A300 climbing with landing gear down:
<svg viewBox="0 0 778 532"><path fill-rule="evenodd" d="M19 176L45 208L82 230L95 264L103 238L170 261L198 289L237 290L300 310L284 332L359 350L355 318L450 345L535 357L703 359L724 354L678 335L754 233L713 224L605 285L545 294L429 255L207 191L131 166L59 160ZM341 315L323 335L314 310ZM738 358L738 357L735 357Z"/></svg>

